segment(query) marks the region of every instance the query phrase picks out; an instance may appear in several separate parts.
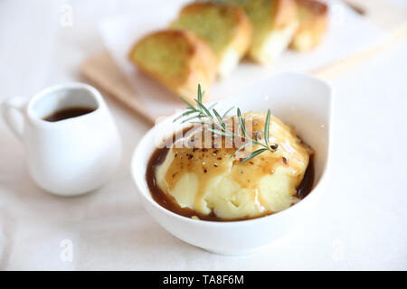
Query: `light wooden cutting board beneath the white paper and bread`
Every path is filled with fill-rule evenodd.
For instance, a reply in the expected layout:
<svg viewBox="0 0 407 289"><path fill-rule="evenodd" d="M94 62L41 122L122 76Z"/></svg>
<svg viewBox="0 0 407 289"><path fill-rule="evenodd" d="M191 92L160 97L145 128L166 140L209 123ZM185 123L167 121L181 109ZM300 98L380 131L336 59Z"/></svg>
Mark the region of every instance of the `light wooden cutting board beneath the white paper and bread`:
<svg viewBox="0 0 407 289"><path fill-rule="evenodd" d="M387 0L344 0L344 2L356 13L363 14L368 21L383 28L390 37L387 42L372 47L368 51L356 53L344 60L308 71L322 79L332 79L407 37L407 9L404 6ZM91 55L81 63L80 72L98 89L128 107L147 124L154 125L155 117L137 96L136 91L128 83L108 51L100 51Z"/></svg>

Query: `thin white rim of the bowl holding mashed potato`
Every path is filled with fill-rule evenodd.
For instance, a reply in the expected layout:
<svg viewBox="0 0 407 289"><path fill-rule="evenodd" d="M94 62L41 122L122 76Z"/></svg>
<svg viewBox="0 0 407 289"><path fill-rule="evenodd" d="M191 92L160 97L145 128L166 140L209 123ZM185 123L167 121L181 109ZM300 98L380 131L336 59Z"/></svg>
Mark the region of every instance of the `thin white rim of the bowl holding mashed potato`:
<svg viewBox="0 0 407 289"><path fill-rule="evenodd" d="M323 79L318 79L316 77L313 76L309 76L307 74L304 73L297 73L297 72L283 72L283 73L279 73L276 76L273 76L269 79L263 79L260 81L260 83L264 82L264 81L268 81L270 79L275 79L277 77L281 77L281 76L295 76L295 77L301 77L304 79L308 79L308 80L312 80L312 81L318 81L320 84L322 84L323 86L325 86L327 88L327 98L329 98L329 105L328 105L328 117L327 117L327 121L328 121L328 125L329 125L329 129L328 129L328 134L327 134L327 161L325 164L325 167L323 169L323 172L321 174L321 177L319 178L319 181L317 182L317 184L312 188L311 191L309 191L307 197L305 197L303 200L298 201L298 203L296 203L295 205L290 206L289 208L285 209L285 210L280 210L278 212L272 213L270 215L266 215L266 216L261 216L261 217L257 217L254 219L242 219L242 220L224 220L224 221L215 221L215 220L206 220L206 219L192 219L192 218L187 218L185 216L176 214L175 212L171 211L171 210L167 210L166 208L162 207L161 205L159 205L156 200L154 200L154 198L151 196L151 192L148 190L148 186L146 184L146 188L147 190L142 190L141 184L139 182L146 182L145 178L144 180L140 180L137 177L137 159L139 157L139 154L141 154L140 151L140 147L141 144L143 144L144 142L147 142L147 139L150 137L154 137L154 133L156 132L156 130L159 129L160 126L163 126L164 124L166 124L166 120L160 122L159 124L156 124L155 126L153 126L152 128L150 128L146 135L144 135L141 140L138 142L137 146L135 147L135 149L133 150L133 154L131 157L131 163L130 163L130 171L131 171L131 177L133 179L133 182L135 182L135 187L137 189L137 194L144 198L145 200L147 200L147 202L152 205L156 210L160 210L161 212L163 212L164 214L166 214L168 217L172 217L173 219L178 219L180 221L183 222L187 222L190 224L194 224L194 225L198 225L198 226L213 226L213 227L230 227L230 226L240 226L243 224L256 224L256 223L262 223L262 222L267 222L269 219L276 219L276 218L281 218L284 217L285 215L291 213L293 210L296 210L295 208L298 207L303 207L304 205L307 205L309 203L310 200L314 200L316 198L317 195L317 191L322 191L320 188L323 186L323 184L325 182L327 182L327 172L330 170L330 159L331 159L331 154L332 154L332 144L333 144L333 113L334 113L334 109L333 109L333 105L334 105L334 101L333 101L333 89L332 87L327 83L327 81L323 80ZM256 84L254 84L253 86L256 86ZM246 91L247 89L250 88L245 88L242 89L243 91ZM239 96L241 96L239 94ZM231 97L229 97L231 98ZM217 101L218 103L221 103L223 101L226 101L226 99L229 98L223 98L219 101ZM169 116L166 119L169 118L173 118L173 117L177 117L180 114L182 114L185 110L181 111L181 112L177 112L171 116ZM149 153L149 157L151 157L151 154L153 154L154 150L152 151L152 153ZM143 170L143 172L146 172L146 170ZM150 194L150 197L148 198L147 193ZM143 205L144 206L144 205ZM147 210L148 212L148 210ZM149 212L148 212L149 213ZM155 218L154 218L155 219Z"/></svg>

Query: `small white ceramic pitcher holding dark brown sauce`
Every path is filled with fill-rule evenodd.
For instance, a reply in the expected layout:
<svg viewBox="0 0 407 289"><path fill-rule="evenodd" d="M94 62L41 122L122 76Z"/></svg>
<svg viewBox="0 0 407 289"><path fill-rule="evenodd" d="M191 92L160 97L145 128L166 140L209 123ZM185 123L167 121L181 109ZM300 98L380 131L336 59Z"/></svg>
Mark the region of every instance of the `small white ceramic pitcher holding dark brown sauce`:
<svg viewBox="0 0 407 289"><path fill-rule="evenodd" d="M70 107L94 110L56 122L43 119ZM95 190L118 165L118 130L99 91L87 84L43 89L28 102L8 99L2 114L24 144L33 181L45 191L74 196Z"/></svg>

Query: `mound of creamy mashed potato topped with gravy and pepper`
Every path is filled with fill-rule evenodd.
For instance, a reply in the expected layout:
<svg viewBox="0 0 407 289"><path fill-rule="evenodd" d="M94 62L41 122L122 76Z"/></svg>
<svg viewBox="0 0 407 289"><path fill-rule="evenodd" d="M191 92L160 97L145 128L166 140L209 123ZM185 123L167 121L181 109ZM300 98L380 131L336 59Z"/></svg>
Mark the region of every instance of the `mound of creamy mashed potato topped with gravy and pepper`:
<svg viewBox="0 0 407 289"><path fill-rule="evenodd" d="M266 114L251 112L242 117L246 126L252 124L251 135L263 129ZM236 127L234 122L231 118L231 127ZM227 145L232 144L230 139L204 138L204 134L201 126L188 131L156 169L158 187L181 208L214 213L221 219L244 219L284 210L298 201L297 187L312 150L277 117L270 118L270 144L279 144L277 151L266 151L246 163L241 158L260 148L259 144L231 157L236 147ZM197 144L205 145L199 148L202 145Z"/></svg>

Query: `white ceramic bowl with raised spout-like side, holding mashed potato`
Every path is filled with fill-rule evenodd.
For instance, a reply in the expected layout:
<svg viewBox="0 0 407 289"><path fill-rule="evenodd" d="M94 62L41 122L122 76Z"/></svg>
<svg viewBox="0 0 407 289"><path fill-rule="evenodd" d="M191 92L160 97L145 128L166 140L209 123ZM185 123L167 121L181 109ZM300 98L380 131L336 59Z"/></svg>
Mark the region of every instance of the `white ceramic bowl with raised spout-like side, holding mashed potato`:
<svg viewBox="0 0 407 289"><path fill-rule="evenodd" d="M332 135L332 91L326 82L306 75L279 74L222 100L216 107L222 112L232 106L240 107L243 112L270 108L273 115L294 126L297 134L315 149L314 188L304 200L270 216L229 222L189 219L161 207L148 190L146 168L157 141L181 129L172 124L176 115L147 132L137 145L131 164L140 200L163 228L189 244L224 255L243 254L264 247L303 223L310 214L317 213L317 200L327 182Z"/></svg>

